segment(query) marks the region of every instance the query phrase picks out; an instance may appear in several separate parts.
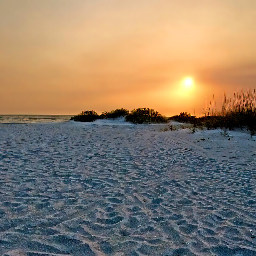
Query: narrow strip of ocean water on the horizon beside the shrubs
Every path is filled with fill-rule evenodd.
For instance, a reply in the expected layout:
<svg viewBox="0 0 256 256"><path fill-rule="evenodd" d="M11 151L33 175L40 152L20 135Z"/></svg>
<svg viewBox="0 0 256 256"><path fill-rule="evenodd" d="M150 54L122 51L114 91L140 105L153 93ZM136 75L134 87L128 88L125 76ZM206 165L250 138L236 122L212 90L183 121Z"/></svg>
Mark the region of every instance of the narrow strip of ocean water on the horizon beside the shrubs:
<svg viewBox="0 0 256 256"><path fill-rule="evenodd" d="M0 123L63 122L74 115L0 115Z"/></svg>

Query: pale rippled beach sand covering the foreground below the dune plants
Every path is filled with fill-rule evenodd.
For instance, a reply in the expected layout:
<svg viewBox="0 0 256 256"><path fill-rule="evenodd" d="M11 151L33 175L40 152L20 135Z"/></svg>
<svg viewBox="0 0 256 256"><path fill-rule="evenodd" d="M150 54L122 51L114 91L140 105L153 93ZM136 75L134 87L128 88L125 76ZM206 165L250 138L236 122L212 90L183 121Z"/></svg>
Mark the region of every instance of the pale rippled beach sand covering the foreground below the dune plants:
<svg viewBox="0 0 256 256"><path fill-rule="evenodd" d="M0 255L255 256L256 141L230 135L0 124Z"/></svg>

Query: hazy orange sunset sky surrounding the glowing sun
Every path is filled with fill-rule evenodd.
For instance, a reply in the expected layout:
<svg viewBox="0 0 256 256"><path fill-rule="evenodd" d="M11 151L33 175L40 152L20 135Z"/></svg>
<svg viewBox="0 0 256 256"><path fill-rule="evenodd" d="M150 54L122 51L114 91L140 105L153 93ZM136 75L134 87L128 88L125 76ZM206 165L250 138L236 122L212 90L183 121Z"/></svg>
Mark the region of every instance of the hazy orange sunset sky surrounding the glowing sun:
<svg viewBox="0 0 256 256"><path fill-rule="evenodd" d="M0 0L0 114L201 115L256 88L255 0ZM191 77L193 84L183 81Z"/></svg>

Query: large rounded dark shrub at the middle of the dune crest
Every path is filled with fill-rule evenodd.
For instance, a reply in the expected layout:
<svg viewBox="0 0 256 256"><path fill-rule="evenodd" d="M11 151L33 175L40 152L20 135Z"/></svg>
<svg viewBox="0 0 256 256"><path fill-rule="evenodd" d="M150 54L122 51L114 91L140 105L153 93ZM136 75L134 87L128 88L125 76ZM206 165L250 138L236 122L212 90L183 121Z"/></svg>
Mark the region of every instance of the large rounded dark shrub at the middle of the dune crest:
<svg viewBox="0 0 256 256"><path fill-rule="evenodd" d="M126 117L127 122L133 124L166 123L167 120L152 108L133 109Z"/></svg>

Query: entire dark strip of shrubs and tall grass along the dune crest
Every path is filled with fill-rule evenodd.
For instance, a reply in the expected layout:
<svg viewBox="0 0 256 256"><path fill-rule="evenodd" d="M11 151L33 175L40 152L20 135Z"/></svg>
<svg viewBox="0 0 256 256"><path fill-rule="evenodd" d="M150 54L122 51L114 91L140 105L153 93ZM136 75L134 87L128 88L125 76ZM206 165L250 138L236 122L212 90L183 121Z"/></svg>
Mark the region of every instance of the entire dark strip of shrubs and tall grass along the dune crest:
<svg viewBox="0 0 256 256"><path fill-rule="evenodd" d="M77 116L73 116L70 120L81 122L93 122L97 119L116 119L125 117L125 121L133 124L151 124L151 123L166 123L170 120L181 123L188 123L191 132L196 132L198 128L217 129L217 128L246 128L255 134L256 131L256 94L255 90L237 91L233 98L229 94L223 93L221 99L221 111L214 111L213 103L205 108L204 114L201 117L193 116L187 112L181 112L178 115L169 118L164 117L158 111L152 108L137 108L129 112L128 109L117 108L108 112L97 114L96 111L87 110L81 112ZM189 128L186 126L186 128ZM185 128L183 125L182 129ZM177 130L177 126L169 126L165 130Z"/></svg>

